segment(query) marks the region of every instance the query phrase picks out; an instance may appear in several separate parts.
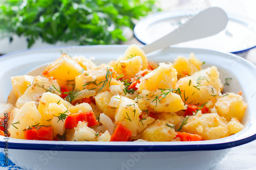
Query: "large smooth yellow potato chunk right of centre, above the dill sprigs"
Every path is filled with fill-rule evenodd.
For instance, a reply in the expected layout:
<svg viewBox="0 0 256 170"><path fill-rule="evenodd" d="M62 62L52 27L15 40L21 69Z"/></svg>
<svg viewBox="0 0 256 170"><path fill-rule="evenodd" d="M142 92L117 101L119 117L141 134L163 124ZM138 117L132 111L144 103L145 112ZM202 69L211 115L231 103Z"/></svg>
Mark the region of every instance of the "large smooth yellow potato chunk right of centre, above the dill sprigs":
<svg viewBox="0 0 256 170"><path fill-rule="evenodd" d="M160 63L160 66L140 79L138 92L142 90L174 89L177 83L177 71L172 63Z"/></svg>

